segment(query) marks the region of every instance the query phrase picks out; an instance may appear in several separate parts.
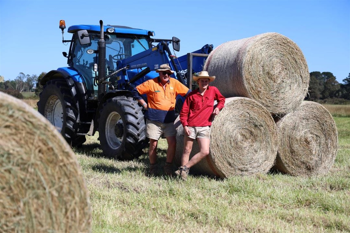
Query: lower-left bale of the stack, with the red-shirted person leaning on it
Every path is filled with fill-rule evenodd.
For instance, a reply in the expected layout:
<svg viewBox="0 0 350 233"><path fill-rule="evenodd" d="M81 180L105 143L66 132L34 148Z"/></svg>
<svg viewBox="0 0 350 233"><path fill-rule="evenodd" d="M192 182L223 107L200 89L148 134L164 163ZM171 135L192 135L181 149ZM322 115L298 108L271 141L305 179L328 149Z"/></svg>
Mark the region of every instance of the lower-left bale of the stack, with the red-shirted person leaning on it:
<svg viewBox="0 0 350 233"><path fill-rule="evenodd" d="M174 162L181 165L183 127L175 121L177 145ZM270 113L257 101L226 98L225 107L212 122L210 153L191 168L191 173L230 177L268 172L276 158L277 129ZM199 152L194 141L190 158Z"/></svg>

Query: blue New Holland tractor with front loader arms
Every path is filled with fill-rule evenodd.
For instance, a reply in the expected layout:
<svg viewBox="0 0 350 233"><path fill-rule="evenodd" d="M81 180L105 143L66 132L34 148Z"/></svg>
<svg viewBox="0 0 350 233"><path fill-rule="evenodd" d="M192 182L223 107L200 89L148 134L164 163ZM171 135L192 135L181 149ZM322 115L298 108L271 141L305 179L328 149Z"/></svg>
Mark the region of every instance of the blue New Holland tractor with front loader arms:
<svg viewBox="0 0 350 233"><path fill-rule="evenodd" d="M86 135L99 132L98 140L107 157L132 160L148 144L144 110L132 98L131 90L157 77L156 69L168 63L173 78L191 88L192 74L202 70L213 46L176 57L180 40L152 38L155 33L125 26L74 25L68 28L67 67L51 70L40 81L43 91L38 111L48 119L71 146L81 146ZM177 99L180 111L183 99Z"/></svg>

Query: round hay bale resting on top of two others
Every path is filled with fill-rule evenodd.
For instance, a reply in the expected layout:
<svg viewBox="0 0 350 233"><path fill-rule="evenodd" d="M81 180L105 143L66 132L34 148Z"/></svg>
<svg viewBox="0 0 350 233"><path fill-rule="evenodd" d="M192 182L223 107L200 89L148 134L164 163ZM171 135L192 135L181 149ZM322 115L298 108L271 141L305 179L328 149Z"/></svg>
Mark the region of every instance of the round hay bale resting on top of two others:
<svg viewBox="0 0 350 233"><path fill-rule="evenodd" d="M212 85L226 98L254 99L276 115L295 110L310 81L302 51L278 33L223 43L209 54L203 70L216 76Z"/></svg>

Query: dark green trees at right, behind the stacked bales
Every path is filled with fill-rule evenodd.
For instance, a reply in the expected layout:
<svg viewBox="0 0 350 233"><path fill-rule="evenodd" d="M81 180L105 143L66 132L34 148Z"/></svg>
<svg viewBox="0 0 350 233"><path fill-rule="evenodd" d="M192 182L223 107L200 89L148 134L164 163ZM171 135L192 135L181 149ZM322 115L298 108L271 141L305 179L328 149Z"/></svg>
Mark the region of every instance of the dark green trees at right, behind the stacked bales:
<svg viewBox="0 0 350 233"><path fill-rule="evenodd" d="M305 99L322 104L349 104L350 73L342 84L336 81L331 72L311 72L309 91Z"/></svg>

